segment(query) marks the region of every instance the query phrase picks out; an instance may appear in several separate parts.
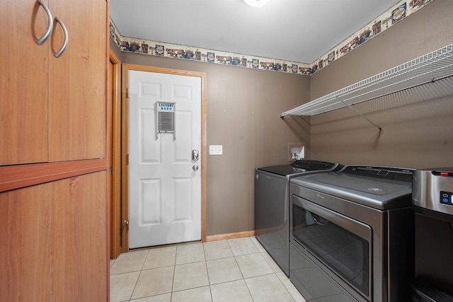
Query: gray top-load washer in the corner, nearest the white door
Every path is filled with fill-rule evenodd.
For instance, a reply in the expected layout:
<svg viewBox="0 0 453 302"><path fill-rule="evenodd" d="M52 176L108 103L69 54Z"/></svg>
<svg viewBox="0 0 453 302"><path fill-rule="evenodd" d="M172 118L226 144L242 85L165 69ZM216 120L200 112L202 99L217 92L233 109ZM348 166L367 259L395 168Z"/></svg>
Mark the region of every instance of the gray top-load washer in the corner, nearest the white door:
<svg viewBox="0 0 453 302"><path fill-rule="evenodd" d="M339 170L343 165L298 160L256 168L255 236L289 276L289 180L298 175Z"/></svg>

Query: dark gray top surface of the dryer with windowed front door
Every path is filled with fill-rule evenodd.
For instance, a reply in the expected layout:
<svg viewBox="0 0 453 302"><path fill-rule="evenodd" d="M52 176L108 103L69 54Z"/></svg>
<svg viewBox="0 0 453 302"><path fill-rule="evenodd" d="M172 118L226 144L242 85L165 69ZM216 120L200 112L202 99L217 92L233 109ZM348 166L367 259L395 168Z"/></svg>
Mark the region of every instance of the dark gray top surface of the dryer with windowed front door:
<svg viewBox="0 0 453 302"><path fill-rule="evenodd" d="M338 172L301 175L291 180L374 209L411 207L413 169L347 165Z"/></svg>

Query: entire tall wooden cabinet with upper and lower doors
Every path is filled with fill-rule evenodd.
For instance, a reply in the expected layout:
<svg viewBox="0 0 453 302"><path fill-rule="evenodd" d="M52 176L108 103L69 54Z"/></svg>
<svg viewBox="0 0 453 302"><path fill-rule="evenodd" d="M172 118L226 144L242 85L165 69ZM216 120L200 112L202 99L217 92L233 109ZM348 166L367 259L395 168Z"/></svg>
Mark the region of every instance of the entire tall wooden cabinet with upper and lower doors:
<svg viewBox="0 0 453 302"><path fill-rule="evenodd" d="M0 301L108 301L107 8L2 3Z"/></svg>

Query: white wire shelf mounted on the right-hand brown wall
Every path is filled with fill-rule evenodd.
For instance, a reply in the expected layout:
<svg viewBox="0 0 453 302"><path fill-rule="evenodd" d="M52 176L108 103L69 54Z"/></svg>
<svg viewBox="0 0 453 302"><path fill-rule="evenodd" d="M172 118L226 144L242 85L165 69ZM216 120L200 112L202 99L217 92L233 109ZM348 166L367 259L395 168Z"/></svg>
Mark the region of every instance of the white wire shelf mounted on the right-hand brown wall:
<svg viewBox="0 0 453 302"><path fill-rule="evenodd" d="M453 76L453 44L324 95L292 110L285 111L280 114L280 117L285 117L285 115L319 115L424 83L444 79L447 76Z"/></svg>

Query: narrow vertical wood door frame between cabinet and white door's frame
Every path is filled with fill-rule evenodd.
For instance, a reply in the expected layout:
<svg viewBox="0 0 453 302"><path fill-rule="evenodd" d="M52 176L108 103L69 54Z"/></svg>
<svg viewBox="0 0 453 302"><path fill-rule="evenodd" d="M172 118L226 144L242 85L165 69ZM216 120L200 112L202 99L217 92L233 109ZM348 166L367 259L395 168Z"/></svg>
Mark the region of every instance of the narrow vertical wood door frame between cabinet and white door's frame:
<svg viewBox="0 0 453 302"><path fill-rule="evenodd" d="M110 63L113 64L112 82L108 81L108 156L112 169L110 174L110 258L116 259L120 255L121 224L121 61L110 50ZM112 85L110 87L110 84ZM111 111L111 112L109 112Z"/></svg>

